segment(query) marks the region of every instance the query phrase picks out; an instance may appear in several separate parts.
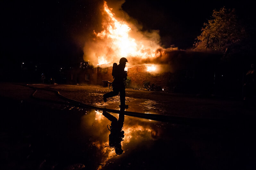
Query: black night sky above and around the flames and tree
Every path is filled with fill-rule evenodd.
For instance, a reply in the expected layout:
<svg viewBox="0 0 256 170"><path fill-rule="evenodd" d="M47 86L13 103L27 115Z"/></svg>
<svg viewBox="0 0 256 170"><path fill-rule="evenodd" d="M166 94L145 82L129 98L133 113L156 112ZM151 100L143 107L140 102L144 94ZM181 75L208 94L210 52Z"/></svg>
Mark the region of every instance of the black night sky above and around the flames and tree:
<svg viewBox="0 0 256 170"><path fill-rule="evenodd" d="M115 1L108 4L111 7ZM83 61L84 40L101 28L102 5L101 0L1 2L1 58L58 66ZM164 48L187 49L212 11L223 6L235 8L245 22L255 20L253 6L247 1L126 0L122 9L138 20L142 30L159 30Z"/></svg>

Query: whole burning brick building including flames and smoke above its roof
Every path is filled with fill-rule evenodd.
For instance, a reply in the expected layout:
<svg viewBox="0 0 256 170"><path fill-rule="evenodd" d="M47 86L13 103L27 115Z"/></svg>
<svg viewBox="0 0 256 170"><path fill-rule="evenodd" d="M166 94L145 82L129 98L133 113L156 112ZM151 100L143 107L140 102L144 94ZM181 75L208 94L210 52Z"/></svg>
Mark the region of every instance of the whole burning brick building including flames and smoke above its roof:
<svg viewBox="0 0 256 170"><path fill-rule="evenodd" d="M195 82L202 85L213 82L218 56L176 47L164 49L160 46L158 30L142 32L120 8L117 16L106 1L101 11L102 27L93 30L84 46L83 59L93 67L83 67L76 82L98 85L112 82L112 65L118 64L122 57L128 60L125 69L131 87L140 88L144 82L161 87L177 84L194 87L198 86Z"/></svg>

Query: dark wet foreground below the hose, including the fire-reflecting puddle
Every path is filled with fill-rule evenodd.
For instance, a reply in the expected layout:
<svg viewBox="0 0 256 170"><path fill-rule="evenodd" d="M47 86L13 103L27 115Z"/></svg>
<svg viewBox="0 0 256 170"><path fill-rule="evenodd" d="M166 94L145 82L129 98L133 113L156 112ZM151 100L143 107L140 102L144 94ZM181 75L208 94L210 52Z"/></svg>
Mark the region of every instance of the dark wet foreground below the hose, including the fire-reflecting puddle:
<svg viewBox="0 0 256 170"><path fill-rule="evenodd" d="M120 154L101 111L33 92L18 85L1 92L0 169L256 169L254 116L188 125L125 115Z"/></svg>

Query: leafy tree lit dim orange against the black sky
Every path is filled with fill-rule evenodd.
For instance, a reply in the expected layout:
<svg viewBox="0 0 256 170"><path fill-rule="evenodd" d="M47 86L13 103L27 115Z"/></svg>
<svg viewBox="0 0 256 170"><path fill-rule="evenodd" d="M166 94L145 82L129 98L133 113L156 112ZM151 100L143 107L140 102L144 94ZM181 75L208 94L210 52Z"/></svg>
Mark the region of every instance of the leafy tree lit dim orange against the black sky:
<svg viewBox="0 0 256 170"><path fill-rule="evenodd" d="M201 35L195 42L195 50L219 51L226 56L248 50L249 44L245 27L239 22L235 9L226 10L225 7L219 11L213 10L212 19L204 23Z"/></svg>

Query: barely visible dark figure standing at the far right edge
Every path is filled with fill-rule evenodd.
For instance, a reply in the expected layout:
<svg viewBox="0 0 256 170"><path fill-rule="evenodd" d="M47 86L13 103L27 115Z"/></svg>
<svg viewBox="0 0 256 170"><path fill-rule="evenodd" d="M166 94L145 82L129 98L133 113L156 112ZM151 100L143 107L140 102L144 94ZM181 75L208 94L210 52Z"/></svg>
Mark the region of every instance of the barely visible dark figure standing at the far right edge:
<svg viewBox="0 0 256 170"><path fill-rule="evenodd" d="M256 88L256 73L254 69L254 65L251 65L251 69L246 73L245 83L243 86L244 90L244 102L246 105L251 106L253 102L253 96L255 95Z"/></svg>

